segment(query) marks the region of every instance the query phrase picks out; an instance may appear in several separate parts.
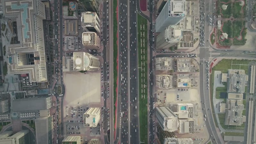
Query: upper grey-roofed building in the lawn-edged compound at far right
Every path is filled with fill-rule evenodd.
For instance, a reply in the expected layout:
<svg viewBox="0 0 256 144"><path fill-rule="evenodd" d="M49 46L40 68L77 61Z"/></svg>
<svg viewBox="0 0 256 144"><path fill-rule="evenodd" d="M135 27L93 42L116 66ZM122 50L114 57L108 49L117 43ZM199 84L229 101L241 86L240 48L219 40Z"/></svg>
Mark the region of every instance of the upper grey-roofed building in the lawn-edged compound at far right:
<svg viewBox="0 0 256 144"><path fill-rule="evenodd" d="M248 75L243 69L228 69L228 91L231 93L244 93L245 83L248 81Z"/></svg>

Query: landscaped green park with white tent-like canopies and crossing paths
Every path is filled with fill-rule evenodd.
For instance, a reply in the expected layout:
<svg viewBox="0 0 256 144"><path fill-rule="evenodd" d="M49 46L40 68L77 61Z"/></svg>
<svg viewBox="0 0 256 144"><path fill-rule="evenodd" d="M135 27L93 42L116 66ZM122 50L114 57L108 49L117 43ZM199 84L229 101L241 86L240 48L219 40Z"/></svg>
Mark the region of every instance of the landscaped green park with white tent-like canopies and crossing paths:
<svg viewBox="0 0 256 144"><path fill-rule="evenodd" d="M217 14L221 27L217 30L217 45L244 45L246 42L245 1L218 0Z"/></svg>

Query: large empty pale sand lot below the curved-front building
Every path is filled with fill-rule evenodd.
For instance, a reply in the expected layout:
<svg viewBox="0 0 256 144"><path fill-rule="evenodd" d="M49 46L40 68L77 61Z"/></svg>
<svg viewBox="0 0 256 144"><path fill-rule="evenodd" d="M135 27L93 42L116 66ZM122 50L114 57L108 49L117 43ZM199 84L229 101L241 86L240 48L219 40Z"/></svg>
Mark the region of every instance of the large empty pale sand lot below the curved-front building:
<svg viewBox="0 0 256 144"><path fill-rule="evenodd" d="M63 73L63 81L66 91L64 106L100 102L100 72Z"/></svg>

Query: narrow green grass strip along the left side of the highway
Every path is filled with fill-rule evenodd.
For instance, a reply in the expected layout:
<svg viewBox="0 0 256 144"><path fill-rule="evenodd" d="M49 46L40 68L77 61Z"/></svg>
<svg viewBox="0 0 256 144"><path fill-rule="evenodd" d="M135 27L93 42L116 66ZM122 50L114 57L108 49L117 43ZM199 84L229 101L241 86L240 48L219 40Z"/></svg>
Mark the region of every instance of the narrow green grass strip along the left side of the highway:
<svg viewBox="0 0 256 144"><path fill-rule="evenodd" d="M117 44L116 44L116 41L117 41L117 37L116 37L116 34L117 34L117 19L116 19L116 7L117 7L117 0L114 0L113 1L113 72L114 72L114 113L116 112L116 88L117 88L117 84L116 84L116 81L117 81L117 62L116 62L116 59L117 59ZM116 122L116 115L114 115L114 123Z"/></svg>

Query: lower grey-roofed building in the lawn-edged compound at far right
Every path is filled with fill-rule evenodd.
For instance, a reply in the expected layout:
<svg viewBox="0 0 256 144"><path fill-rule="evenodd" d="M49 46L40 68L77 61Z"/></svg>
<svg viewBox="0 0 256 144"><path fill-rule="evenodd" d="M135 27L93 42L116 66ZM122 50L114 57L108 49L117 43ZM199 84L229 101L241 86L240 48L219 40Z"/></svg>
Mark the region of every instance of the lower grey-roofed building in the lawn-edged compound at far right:
<svg viewBox="0 0 256 144"><path fill-rule="evenodd" d="M244 122L243 110L243 93L228 93L225 125L242 125Z"/></svg>

